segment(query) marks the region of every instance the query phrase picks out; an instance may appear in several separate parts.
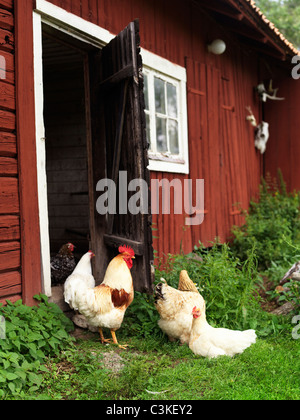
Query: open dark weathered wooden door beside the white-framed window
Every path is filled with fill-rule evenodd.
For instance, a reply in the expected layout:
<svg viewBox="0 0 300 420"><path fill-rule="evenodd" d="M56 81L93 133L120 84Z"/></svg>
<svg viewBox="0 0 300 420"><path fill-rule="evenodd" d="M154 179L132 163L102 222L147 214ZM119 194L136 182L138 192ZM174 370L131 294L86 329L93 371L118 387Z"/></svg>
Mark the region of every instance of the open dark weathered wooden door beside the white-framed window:
<svg viewBox="0 0 300 420"><path fill-rule="evenodd" d="M118 246L126 244L136 254L132 268L135 290L151 292L151 203L139 22L131 22L101 51L91 54L89 67L93 183L90 186L91 246L96 253L95 276L102 281ZM119 185L120 171L123 171L122 185ZM104 178L112 180L117 187L116 214L101 215L96 211L97 197L103 194L96 191L96 186ZM135 194L128 191L128 184L133 179L143 179L148 185L148 209L144 214L131 214L124 205ZM122 200L119 200L120 194Z"/></svg>

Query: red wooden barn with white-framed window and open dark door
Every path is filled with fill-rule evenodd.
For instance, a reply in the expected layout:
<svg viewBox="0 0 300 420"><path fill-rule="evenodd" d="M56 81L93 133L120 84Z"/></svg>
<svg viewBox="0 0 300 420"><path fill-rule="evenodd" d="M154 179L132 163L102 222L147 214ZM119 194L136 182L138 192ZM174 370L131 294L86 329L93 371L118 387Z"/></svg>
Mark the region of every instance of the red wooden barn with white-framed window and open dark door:
<svg viewBox="0 0 300 420"><path fill-rule="evenodd" d="M50 255L69 241L95 250L98 280L129 244L151 291L152 232L158 257L190 252L228 238L266 171L300 188L295 55L252 0L0 0L0 301L50 295ZM250 109L269 123L265 153ZM109 214L103 179L118 185ZM168 194L128 214L136 179Z"/></svg>

